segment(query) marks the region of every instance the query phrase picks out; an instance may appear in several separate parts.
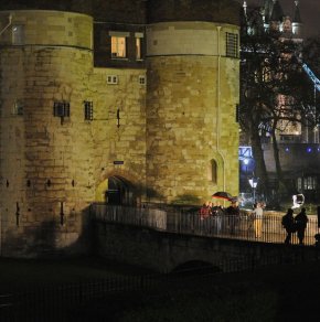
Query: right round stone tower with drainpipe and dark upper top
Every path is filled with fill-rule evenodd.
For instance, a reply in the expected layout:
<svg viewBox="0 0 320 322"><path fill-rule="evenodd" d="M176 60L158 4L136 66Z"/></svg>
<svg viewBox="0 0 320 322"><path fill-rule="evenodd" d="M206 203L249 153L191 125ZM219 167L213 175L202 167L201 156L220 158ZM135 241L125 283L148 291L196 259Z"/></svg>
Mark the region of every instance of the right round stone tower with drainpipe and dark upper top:
<svg viewBox="0 0 320 322"><path fill-rule="evenodd" d="M166 202L238 193L239 7L159 0L147 26L147 185Z"/></svg>

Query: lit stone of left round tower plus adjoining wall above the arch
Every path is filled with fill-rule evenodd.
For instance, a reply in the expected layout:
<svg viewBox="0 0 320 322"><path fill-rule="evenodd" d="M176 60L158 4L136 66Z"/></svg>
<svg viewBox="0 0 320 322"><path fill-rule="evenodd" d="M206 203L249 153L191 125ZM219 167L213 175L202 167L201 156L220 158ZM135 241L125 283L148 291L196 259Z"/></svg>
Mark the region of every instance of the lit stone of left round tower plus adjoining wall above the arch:
<svg viewBox="0 0 320 322"><path fill-rule="evenodd" d="M3 33L0 53L1 249L77 251L88 206L103 200L99 184L111 174L136 185L145 180L146 72L95 69L88 15L15 11L12 24L20 23L23 43L12 45L11 32ZM108 75L118 84L108 85ZM54 116L57 101L70 104L70 117Z"/></svg>

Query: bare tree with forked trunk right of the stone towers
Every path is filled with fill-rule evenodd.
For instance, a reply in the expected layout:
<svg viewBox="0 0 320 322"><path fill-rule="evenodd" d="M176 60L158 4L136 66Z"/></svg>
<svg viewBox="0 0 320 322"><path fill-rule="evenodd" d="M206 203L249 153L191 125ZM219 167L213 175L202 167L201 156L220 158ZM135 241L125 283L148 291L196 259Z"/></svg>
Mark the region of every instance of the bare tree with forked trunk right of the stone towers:
<svg viewBox="0 0 320 322"><path fill-rule="evenodd" d="M269 194L269 179L263 151L265 135L271 138L277 179L286 187L276 133L284 125L302 122L310 109L306 95L310 82L302 71L301 43L278 32L245 33L242 36L241 110L242 131L249 138L260 192ZM309 92L310 93L310 92Z"/></svg>

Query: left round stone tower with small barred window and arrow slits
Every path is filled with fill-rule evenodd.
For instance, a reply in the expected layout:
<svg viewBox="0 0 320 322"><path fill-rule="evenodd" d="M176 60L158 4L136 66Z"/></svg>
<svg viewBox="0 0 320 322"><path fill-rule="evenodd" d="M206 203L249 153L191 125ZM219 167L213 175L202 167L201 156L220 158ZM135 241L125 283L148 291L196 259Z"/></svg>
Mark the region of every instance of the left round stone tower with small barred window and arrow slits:
<svg viewBox="0 0 320 322"><path fill-rule="evenodd" d="M2 249L58 248L75 243L82 230L75 217L63 225L66 217L94 197L93 189L78 189L90 184L82 106L84 75L92 73L93 20L72 12L10 10L1 11L2 30L9 19L0 53Z"/></svg>

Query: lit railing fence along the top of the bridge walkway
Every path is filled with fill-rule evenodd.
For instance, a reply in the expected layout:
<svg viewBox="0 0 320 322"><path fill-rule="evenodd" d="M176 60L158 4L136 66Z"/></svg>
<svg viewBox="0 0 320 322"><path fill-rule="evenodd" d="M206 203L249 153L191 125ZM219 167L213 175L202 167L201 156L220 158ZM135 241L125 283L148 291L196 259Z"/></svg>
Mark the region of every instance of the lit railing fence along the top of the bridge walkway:
<svg viewBox="0 0 320 322"><path fill-rule="evenodd" d="M245 212L242 212L239 216L230 216L222 213L203 218L198 213L93 204L90 213L96 221L149 227L178 234L274 244L284 243L287 236L287 232L281 224L281 216L274 214L265 214L262 219L258 219L262 230L260 236L257 237L256 218ZM314 245L314 235L319 233L318 218L317 216L308 216L308 219L303 244ZM299 244L297 233L291 234L290 243Z"/></svg>

